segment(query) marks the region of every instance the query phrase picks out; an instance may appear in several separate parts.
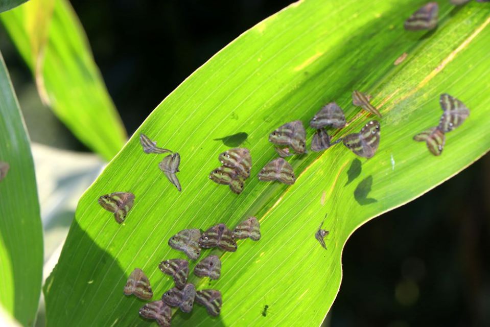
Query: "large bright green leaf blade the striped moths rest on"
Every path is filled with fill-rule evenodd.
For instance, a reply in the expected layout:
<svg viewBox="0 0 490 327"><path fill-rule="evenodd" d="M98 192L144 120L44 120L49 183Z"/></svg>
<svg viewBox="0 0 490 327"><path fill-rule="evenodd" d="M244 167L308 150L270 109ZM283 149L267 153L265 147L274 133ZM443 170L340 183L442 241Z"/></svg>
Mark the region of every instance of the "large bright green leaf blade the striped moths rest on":
<svg viewBox="0 0 490 327"><path fill-rule="evenodd" d="M48 323L145 325L142 302L122 290L135 268L147 272L154 299L171 288L161 260L184 258L168 239L184 228L233 227L247 216L261 222L258 242L239 241L221 256L222 275L212 288L223 294L217 318L196 306L177 312L175 325L320 324L340 285L341 252L349 235L372 217L427 192L490 149L490 8L441 5L439 28L430 35L403 29L407 12L422 1L306 0L266 19L229 44L180 85L149 116L80 200L58 267L46 286ZM404 52L405 62L393 62ZM358 132L372 116L352 105L355 89L371 94L383 114L381 143L371 159L337 145L288 159L292 186L259 182L276 157L267 141L278 126L305 124L325 103L336 101L348 126L333 139ZM448 134L440 157L412 136L436 125L439 94L448 92L472 110ZM143 132L181 156L177 192L146 155ZM248 134L251 177L239 196L207 175L227 149L217 138ZM308 129L311 139L314 131ZM309 142L307 142L309 144ZM361 165L359 165L359 162ZM353 168L351 168L353 167ZM108 192L130 191L135 205L119 226L97 204ZM436 205L436 204L435 204ZM323 249L314 235L330 230ZM84 269L79 269L83 267ZM193 267L191 266L191 269ZM206 279L190 277L198 289ZM82 303L82 304L81 304ZM268 314L261 314L264 306Z"/></svg>

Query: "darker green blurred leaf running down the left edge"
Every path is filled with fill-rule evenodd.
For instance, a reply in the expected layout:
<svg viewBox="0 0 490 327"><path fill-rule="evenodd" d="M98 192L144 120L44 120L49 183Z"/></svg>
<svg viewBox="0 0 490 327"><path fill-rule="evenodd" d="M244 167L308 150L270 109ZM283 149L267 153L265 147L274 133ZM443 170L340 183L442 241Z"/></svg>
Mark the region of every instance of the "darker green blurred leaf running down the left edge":
<svg viewBox="0 0 490 327"><path fill-rule="evenodd" d="M29 137L0 54L0 303L23 325L36 316L42 277L42 228Z"/></svg>

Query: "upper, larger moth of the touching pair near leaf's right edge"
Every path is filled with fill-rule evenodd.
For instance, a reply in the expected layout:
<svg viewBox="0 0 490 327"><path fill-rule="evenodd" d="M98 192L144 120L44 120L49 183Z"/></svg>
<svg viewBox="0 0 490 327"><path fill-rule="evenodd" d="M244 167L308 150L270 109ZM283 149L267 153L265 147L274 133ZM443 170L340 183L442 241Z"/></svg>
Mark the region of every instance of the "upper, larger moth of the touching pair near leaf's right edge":
<svg viewBox="0 0 490 327"><path fill-rule="evenodd" d="M441 94L440 107L444 111L440 117L438 128L442 132L450 132L461 125L470 115L470 110L461 101L449 94Z"/></svg>

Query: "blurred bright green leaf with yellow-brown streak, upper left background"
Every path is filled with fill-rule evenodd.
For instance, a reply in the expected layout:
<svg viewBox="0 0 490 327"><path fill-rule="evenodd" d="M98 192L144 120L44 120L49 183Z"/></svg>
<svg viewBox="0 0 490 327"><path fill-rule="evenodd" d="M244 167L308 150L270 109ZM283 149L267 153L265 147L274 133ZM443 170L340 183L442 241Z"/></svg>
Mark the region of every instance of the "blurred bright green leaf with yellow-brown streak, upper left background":
<svg viewBox="0 0 490 327"><path fill-rule="evenodd" d="M126 132L66 0L31 0L0 15L36 79L39 95L72 132L105 159Z"/></svg>

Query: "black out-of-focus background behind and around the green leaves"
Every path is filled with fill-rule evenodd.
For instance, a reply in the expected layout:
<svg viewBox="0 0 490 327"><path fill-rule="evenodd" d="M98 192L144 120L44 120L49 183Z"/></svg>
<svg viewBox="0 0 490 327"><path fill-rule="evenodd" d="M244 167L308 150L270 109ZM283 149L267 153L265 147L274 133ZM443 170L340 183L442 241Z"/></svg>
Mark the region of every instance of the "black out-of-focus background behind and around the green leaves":
<svg viewBox="0 0 490 327"><path fill-rule="evenodd" d="M128 133L213 54L290 3L72 1ZM40 105L31 75L3 30L0 46L33 141L86 151ZM490 326L489 168L486 155L356 231L343 253L331 325Z"/></svg>

